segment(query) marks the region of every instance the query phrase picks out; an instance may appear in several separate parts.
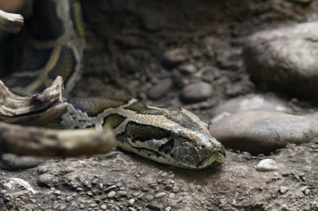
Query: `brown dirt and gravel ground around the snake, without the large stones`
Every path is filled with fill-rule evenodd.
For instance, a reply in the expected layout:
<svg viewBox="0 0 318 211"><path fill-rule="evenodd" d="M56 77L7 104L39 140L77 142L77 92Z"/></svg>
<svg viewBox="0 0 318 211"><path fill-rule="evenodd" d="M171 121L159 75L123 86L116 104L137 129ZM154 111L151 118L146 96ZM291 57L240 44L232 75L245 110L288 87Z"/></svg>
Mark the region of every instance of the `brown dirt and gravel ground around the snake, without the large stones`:
<svg viewBox="0 0 318 211"><path fill-rule="evenodd" d="M242 57L247 35L318 20L318 1L301 2L306 1L82 0L85 74L74 96L181 105L209 122L216 105L260 93ZM192 104L180 100L184 86L200 81L213 86L212 97ZM164 91L152 90L158 86ZM48 159L32 169L0 170L0 181L21 178L37 191L0 188L0 210L318 210L317 144L289 144L266 156L227 149L224 163L202 170L121 151ZM257 172L264 158L275 160L279 171ZM282 186L287 193L280 192Z"/></svg>

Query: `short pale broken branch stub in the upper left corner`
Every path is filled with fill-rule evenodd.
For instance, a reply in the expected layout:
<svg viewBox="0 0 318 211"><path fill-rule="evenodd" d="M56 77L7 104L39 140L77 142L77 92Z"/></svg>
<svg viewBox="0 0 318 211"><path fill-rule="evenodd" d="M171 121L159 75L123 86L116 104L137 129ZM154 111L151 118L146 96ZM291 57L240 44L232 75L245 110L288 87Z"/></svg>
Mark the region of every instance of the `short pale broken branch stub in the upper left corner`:
<svg viewBox="0 0 318 211"><path fill-rule="evenodd" d="M18 33L22 26L22 15L8 13L0 10L0 29L10 33Z"/></svg>

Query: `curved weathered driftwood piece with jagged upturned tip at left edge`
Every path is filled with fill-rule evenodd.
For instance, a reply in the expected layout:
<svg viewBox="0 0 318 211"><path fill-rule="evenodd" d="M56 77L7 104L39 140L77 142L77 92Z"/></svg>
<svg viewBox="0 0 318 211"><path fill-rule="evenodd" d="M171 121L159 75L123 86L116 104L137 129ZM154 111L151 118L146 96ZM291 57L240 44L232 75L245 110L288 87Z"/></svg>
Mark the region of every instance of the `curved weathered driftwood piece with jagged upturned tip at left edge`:
<svg viewBox="0 0 318 211"><path fill-rule="evenodd" d="M0 80L0 120L20 124L45 126L67 112L62 100L63 79L58 76L42 93L28 97L13 94Z"/></svg>

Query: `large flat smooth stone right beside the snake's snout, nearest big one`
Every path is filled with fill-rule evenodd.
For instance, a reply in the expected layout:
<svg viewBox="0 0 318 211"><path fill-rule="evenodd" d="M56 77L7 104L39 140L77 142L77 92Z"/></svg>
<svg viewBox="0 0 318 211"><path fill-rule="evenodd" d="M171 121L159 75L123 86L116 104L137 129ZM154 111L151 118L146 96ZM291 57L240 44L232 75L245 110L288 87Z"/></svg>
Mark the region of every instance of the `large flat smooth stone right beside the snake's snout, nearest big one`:
<svg viewBox="0 0 318 211"><path fill-rule="evenodd" d="M281 112L248 111L213 123L210 132L225 148L266 154L288 143L306 143L317 137L318 120Z"/></svg>

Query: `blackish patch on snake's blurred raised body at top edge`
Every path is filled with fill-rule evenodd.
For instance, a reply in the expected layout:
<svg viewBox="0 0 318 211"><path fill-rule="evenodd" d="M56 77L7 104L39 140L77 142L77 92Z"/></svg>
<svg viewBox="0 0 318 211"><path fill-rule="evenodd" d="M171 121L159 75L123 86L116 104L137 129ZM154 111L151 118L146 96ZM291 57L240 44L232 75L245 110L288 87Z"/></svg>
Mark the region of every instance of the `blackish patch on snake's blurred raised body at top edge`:
<svg viewBox="0 0 318 211"><path fill-rule="evenodd" d="M33 14L25 20L25 28L37 40L56 40L64 34L63 22L59 19L53 1L35 0Z"/></svg>

